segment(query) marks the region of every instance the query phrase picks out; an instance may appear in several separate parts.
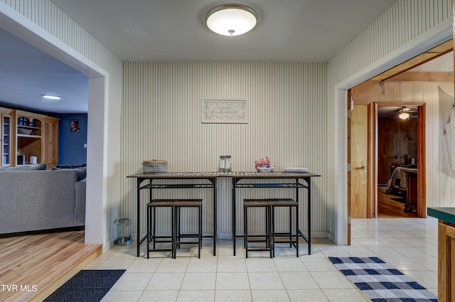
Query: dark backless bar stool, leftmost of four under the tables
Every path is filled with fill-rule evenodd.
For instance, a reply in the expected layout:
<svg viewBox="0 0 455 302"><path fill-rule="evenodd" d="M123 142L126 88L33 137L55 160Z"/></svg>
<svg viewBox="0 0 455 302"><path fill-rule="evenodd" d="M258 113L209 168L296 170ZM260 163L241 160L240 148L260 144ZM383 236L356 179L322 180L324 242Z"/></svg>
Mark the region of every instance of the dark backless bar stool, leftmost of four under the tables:
<svg viewBox="0 0 455 302"><path fill-rule="evenodd" d="M156 235L156 208L169 207L171 208L171 236L157 236ZM149 259L150 252L171 252L171 257L175 257L173 249L174 239L174 221L173 221L173 200L154 199L147 203L147 259ZM156 249L156 243L168 242L171 243L170 249ZM150 248L150 244L153 247Z"/></svg>

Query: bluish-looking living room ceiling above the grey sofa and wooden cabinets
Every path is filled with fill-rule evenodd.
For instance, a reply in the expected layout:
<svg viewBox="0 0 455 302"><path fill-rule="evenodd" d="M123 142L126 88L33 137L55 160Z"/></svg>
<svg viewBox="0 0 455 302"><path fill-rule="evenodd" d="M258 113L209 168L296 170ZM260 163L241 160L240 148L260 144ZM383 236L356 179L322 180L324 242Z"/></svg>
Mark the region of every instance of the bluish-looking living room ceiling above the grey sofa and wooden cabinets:
<svg viewBox="0 0 455 302"><path fill-rule="evenodd" d="M39 112L88 109L88 77L0 28L0 105ZM61 101L46 101L53 94Z"/></svg>

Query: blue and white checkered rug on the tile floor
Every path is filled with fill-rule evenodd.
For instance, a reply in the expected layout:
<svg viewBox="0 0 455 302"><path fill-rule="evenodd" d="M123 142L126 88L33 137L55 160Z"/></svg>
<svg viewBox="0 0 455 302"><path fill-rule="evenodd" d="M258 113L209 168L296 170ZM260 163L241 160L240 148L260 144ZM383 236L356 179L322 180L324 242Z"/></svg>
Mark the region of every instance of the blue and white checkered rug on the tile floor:
<svg viewBox="0 0 455 302"><path fill-rule="evenodd" d="M372 301L438 301L434 293L378 257L328 259Z"/></svg>

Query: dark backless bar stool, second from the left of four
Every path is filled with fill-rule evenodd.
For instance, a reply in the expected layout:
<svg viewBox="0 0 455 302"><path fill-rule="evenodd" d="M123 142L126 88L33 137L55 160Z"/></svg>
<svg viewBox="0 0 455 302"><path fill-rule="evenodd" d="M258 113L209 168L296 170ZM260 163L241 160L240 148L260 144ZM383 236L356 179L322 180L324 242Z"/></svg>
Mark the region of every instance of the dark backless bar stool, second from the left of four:
<svg viewBox="0 0 455 302"><path fill-rule="evenodd" d="M198 232L181 233L181 208L196 207L198 208ZM173 258L176 258L176 249L181 244L198 244L198 258L200 258L200 249L202 248L202 199L176 199L173 200ZM182 240L183 238L196 238L193 241Z"/></svg>

